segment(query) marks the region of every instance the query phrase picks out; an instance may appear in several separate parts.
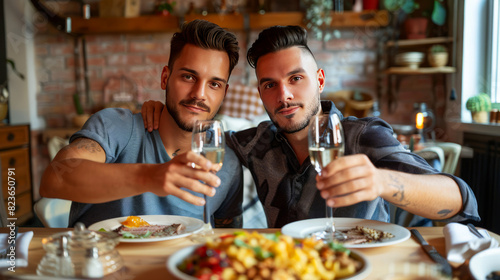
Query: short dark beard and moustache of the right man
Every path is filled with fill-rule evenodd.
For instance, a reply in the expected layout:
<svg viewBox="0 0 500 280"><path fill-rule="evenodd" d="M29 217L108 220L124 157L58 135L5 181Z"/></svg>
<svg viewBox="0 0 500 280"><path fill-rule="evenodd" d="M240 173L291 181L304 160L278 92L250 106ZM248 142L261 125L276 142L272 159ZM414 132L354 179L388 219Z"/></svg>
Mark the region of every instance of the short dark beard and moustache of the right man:
<svg viewBox="0 0 500 280"><path fill-rule="evenodd" d="M320 99L319 99L319 94L317 94L318 98L314 99L313 103L311 103L309 106L305 107L305 116L303 120L299 120L297 123L292 123L289 125L281 126L279 122L276 119L276 113L278 113L279 110L288 108L290 106L300 106L304 107L304 104L302 103L283 103L279 108L277 108L274 111L274 114L269 114L269 111L266 109L267 114L270 116L271 121L273 124L282 132L287 133L287 134L292 134L299 132L309 126L309 123L311 122L311 119L318 114L319 111L319 106L320 106ZM290 119L293 118L295 114L286 116L285 118Z"/></svg>

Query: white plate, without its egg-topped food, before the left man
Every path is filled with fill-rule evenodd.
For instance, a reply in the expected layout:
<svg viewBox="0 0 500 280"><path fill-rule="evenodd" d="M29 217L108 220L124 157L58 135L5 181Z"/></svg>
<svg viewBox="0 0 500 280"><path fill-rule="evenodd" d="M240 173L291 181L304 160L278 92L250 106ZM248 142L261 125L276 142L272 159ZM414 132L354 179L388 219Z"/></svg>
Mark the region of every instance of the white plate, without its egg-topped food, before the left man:
<svg viewBox="0 0 500 280"><path fill-rule="evenodd" d="M203 227L203 221L191 217L174 216L174 215L142 215L138 217L141 217L151 225L183 224L186 226L186 230L184 231L183 234L177 234L172 236L137 238L137 239L120 238L120 242L140 243L140 242L156 242L156 241L176 239L196 233L200 231L201 228ZM92 224L89 227L89 229L97 231L103 228L106 231L111 231L121 226L122 224L120 224L120 222L125 221L127 218L128 216L100 221L95 224Z"/></svg>

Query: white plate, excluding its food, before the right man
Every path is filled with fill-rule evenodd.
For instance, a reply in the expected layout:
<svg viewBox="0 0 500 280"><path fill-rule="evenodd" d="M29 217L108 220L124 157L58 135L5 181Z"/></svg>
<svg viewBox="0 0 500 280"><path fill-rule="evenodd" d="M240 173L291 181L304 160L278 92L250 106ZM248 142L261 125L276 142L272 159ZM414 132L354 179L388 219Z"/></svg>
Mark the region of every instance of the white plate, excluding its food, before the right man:
<svg viewBox="0 0 500 280"><path fill-rule="evenodd" d="M281 232L283 234L290 235L293 238L306 238L313 232L324 230L326 220L326 218L318 218L289 223L281 228ZM381 242L345 244L344 246L347 248L372 248L388 246L403 242L411 236L409 230L396 224L357 218L333 218L333 221L335 222L335 229L351 229L356 226L364 226L389 232L394 235L393 238L383 239Z"/></svg>

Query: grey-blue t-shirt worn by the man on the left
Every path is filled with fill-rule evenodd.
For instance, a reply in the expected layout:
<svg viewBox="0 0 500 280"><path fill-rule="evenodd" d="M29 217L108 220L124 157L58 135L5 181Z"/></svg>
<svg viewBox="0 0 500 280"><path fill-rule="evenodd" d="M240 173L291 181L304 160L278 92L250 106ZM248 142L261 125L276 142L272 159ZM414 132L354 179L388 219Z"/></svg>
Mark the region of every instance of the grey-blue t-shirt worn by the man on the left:
<svg viewBox="0 0 500 280"><path fill-rule="evenodd" d="M104 109L92 115L82 130L71 136L70 141L80 137L97 141L106 152L106 163L165 163L170 160L158 131L149 133L144 128L141 114L132 114L126 109ZM217 176L222 183L215 196L208 198L207 204L212 224L214 218L229 219L242 214L241 164L228 147ZM180 215L203 220L203 206L192 205L175 196L160 197L150 192L106 203L73 202L69 226L82 222L88 227L98 221L130 215Z"/></svg>

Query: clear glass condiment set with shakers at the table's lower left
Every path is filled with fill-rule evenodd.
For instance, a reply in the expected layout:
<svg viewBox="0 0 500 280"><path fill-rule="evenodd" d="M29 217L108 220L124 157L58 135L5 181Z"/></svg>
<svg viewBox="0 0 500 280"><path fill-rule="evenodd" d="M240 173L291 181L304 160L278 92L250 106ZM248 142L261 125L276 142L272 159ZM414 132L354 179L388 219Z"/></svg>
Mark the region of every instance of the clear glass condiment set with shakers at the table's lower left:
<svg viewBox="0 0 500 280"><path fill-rule="evenodd" d="M115 232L88 230L77 223L73 231L54 234L42 240L46 251L37 274L56 277L101 278L123 267L115 249L119 235Z"/></svg>

